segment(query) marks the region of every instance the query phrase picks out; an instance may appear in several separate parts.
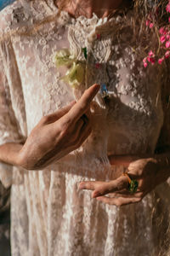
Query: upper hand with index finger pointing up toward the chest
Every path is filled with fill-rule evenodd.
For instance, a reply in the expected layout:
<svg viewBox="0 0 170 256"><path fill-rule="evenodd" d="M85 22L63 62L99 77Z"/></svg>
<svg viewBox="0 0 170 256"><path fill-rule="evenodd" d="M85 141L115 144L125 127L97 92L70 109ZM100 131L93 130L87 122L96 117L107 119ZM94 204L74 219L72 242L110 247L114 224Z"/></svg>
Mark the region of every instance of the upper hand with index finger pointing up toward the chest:
<svg viewBox="0 0 170 256"><path fill-rule="evenodd" d="M99 84L85 90L78 102L42 117L20 150L20 166L41 170L79 148L91 132L88 114L90 103L99 91Z"/></svg>

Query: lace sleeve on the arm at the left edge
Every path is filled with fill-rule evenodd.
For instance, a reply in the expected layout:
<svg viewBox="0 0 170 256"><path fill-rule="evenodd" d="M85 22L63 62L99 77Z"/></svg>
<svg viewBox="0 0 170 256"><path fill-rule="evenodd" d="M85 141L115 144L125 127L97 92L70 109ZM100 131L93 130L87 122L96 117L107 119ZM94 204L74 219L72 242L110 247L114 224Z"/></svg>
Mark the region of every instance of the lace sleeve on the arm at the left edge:
<svg viewBox="0 0 170 256"><path fill-rule="evenodd" d="M14 49L0 43L0 145L26 141L26 116ZM0 161L0 180L11 185L14 166Z"/></svg>

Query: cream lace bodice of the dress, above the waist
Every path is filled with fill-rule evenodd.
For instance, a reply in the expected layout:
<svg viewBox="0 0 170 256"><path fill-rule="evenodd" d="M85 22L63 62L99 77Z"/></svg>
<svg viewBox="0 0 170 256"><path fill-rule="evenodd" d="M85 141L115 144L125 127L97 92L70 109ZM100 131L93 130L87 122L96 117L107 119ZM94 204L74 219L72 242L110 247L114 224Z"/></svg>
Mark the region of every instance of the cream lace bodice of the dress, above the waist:
<svg viewBox="0 0 170 256"><path fill-rule="evenodd" d="M54 15L57 9L52 2L48 1L47 7L44 1L38 6L23 1L27 9L13 10L10 28ZM159 72L157 67L144 69L141 57L134 51L137 45L130 26L118 35L116 27L122 23L121 16L111 20L80 16L75 20L63 11L58 21L47 22L32 35L12 39L26 108L27 135L42 115L64 107L90 85L99 83L107 85L110 101L105 103L99 94L94 100L95 140L88 139L95 141L94 150L100 151L105 144L110 154L153 152L163 119ZM87 60L82 52L85 47ZM76 90L60 80L65 69L63 73L54 64L55 53L65 48L85 63L85 79Z"/></svg>

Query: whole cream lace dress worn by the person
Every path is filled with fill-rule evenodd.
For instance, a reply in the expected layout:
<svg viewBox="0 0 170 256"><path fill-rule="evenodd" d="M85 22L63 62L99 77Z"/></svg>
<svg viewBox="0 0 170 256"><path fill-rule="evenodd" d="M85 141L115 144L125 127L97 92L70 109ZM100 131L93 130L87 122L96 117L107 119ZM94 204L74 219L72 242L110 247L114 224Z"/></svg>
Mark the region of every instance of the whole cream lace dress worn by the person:
<svg viewBox="0 0 170 256"><path fill-rule="evenodd" d="M107 84L110 102L95 97L92 135L44 170L0 164L3 184L12 183L12 255L156 256L169 218L167 183L126 207L91 199L91 192L78 191L77 184L121 175L122 166L111 167L108 154L154 152L164 120L160 73L137 60L130 26L116 37L121 16L75 20L61 12L59 19L28 32L38 20L55 14L52 0L16 1L0 13L0 144L25 142L43 115L79 98L91 84ZM18 35L12 36L14 31ZM60 80L65 70L55 67L54 55L63 48L86 62L78 90ZM164 213L158 226L154 212L159 218Z"/></svg>

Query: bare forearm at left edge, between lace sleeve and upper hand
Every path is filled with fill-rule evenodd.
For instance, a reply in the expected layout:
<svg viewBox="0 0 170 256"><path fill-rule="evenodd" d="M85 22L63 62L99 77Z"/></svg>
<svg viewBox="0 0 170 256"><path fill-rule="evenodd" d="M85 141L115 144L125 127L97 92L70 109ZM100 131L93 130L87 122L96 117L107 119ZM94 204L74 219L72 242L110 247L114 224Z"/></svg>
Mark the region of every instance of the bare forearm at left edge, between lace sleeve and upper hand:
<svg viewBox="0 0 170 256"><path fill-rule="evenodd" d="M0 146L0 161L12 166L20 166L19 152L23 144L5 143Z"/></svg>

